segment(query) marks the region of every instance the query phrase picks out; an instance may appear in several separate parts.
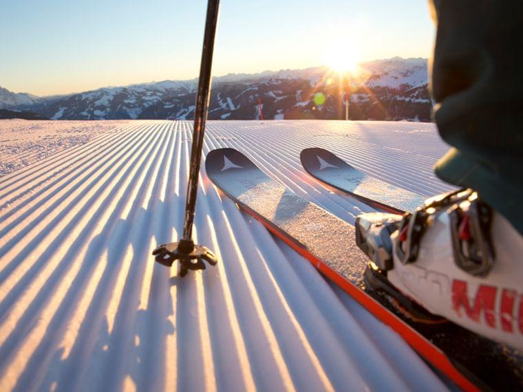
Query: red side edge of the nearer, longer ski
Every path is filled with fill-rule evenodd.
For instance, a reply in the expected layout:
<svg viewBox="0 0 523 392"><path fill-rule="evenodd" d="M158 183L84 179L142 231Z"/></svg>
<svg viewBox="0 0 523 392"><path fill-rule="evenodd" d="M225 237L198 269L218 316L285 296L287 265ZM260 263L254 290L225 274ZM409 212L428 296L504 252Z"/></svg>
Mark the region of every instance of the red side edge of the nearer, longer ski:
<svg viewBox="0 0 523 392"><path fill-rule="evenodd" d="M365 307L365 309L371 312L376 318L378 318L378 320L381 320L383 323L394 329L394 331L396 331L396 333L399 334L403 340L405 340L414 350L416 350L420 356L425 358L431 364L434 364L435 367L444 373L458 387L464 391L480 391L480 389L478 389L475 384L473 384L468 378L465 377L465 375L456 369L449 358L445 356L445 353L432 345L429 340L423 338L423 336L420 336L420 334L414 331L414 329L399 320L392 312L381 306L380 303L374 300L374 298L365 294L365 292L363 292L363 290L361 290L359 287L343 278L343 276L337 274L337 272L332 270L332 268L328 267L328 265L323 263L323 261L315 257L314 254L310 253L303 245L289 239L288 236L284 235L284 233L275 228L264 217L242 203L236 202L236 204L238 204L249 215L252 215L257 221L260 221L261 224L263 224L276 237L284 241L288 246L310 261L310 263L314 265L314 268L316 268L321 274L328 277L328 279L341 287L343 291L354 298L360 305Z"/></svg>

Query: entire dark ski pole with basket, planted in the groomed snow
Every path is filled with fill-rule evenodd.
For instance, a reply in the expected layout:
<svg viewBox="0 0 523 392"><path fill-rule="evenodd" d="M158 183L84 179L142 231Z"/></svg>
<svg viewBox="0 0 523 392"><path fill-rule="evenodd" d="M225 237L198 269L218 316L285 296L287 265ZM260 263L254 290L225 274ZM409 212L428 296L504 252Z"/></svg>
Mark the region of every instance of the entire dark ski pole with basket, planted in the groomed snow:
<svg viewBox="0 0 523 392"><path fill-rule="evenodd" d="M209 98L211 95L211 69L219 7L220 0L209 0L207 3L202 62L200 63L200 78L198 78L198 92L196 94L196 109L194 113L193 145L191 148L189 182L187 184L183 236L179 242L166 243L153 250L156 261L167 267L171 267L175 260L180 260L180 276L185 276L188 270L204 270L204 261L211 265L215 265L218 261L211 250L204 246L196 245L192 235L205 120L209 111Z"/></svg>

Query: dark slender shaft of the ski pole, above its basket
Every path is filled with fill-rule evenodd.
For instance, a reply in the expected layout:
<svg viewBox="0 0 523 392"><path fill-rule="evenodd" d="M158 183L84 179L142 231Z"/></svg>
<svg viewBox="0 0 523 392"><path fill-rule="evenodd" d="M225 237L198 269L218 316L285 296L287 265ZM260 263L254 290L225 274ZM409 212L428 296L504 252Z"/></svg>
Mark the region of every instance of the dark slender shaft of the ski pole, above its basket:
<svg viewBox="0 0 523 392"><path fill-rule="evenodd" d="M198 175L204 142L205 120L209 111L211 93L211 69L213 65L214 39L218 21L220 0L209 0L205 22L204 45L202 48L202 62L200 63L200 78L198 79L198 94L196 95L196 109L194 113L193 146L191 149L191 166L189 168L189 184L187 185L187 199L185 204L184 239L191 239L193 221L198 193Z"/></svg>

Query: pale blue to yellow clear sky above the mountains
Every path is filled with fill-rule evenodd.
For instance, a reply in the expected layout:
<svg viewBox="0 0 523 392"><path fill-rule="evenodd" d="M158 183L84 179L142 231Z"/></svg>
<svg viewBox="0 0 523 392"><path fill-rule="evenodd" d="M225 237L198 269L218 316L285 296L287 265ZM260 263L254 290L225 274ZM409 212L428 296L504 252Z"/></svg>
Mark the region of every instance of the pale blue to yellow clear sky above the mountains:
<svg viewBox="0 0 523 392"><path fill-rule="evenodd" d="M202 0L0 0L0 86L38 96L198 76ZM429 57L426 0L222 0L213 75Z"/></svg>

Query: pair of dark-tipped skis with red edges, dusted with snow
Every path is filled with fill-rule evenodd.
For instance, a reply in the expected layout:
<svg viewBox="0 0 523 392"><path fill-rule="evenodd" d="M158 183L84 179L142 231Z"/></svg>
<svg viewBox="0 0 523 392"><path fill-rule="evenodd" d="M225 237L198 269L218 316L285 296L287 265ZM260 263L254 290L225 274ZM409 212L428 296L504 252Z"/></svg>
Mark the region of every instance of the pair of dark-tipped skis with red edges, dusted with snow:
<svg viewBox="0 0 523 392"><path fill-rule="evenodd" d="M301 152L305 170L375 208L393 213L414 210L421 195L382 182L324 149ZM504 347L450 322L427 325L398 312L387 296L367 290L368 259L356 246L354 227L295 195L234 149L206 157L206 173L242 209L260 221L339 285L383 323L392 327L434 369L465 390L517 389L522 375Z"/></svg>

